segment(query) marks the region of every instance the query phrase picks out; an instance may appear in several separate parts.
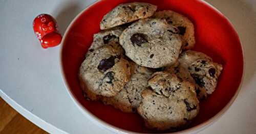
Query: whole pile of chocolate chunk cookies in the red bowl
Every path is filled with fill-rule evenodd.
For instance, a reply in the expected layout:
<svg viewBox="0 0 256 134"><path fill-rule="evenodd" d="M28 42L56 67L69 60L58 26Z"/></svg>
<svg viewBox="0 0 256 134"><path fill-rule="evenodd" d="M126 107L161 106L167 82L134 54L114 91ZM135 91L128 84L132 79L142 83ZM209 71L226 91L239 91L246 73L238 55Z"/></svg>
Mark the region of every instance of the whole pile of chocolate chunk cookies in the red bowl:
<svg viewBox="0 0 256 134"><path fill-rule="evenodd" d="M137 112L151 129L179 129L215 91L222 65L194 47L194 25L147 3L118 5L100 22L79 69L87 99Z"/></svg>

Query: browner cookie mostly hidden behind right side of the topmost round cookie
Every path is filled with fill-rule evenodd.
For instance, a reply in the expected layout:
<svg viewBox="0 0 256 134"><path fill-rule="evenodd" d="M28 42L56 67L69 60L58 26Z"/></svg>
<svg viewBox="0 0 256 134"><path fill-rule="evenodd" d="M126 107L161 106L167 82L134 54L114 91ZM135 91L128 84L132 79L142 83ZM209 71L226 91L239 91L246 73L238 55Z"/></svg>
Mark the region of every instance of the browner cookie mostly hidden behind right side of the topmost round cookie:
<svg viewBox="0 0 256 134"><path fill-rule="evenodd" d="M196 43L194 25L187 17L170 10L156 12L154 17L165 19L169 24L177 26L183 38L183 49L194 47Z"/></svg>

